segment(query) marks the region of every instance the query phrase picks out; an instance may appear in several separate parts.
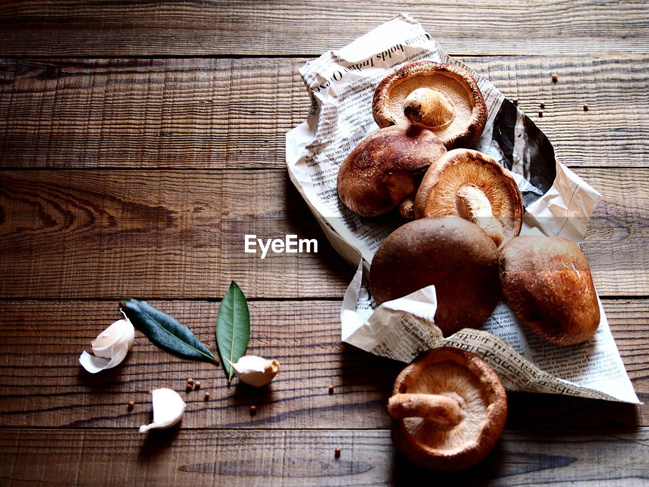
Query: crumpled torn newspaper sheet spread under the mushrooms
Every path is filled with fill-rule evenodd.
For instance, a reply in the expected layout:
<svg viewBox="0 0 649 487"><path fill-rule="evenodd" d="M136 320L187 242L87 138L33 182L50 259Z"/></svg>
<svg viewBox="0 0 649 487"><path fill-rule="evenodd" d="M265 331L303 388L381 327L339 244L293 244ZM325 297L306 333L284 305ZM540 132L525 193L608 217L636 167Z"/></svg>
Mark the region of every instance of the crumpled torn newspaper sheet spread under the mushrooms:
<svg viewBox="0 0 649 487"><path fill-rule="evenodd" d="M300 69L312 106L306 121L286 135L286 160L291 181L334 249L358 266L343 297L343 341L402 362L432 347L459 347L481 356L509 390L639 403L599 299L598 331L571 347L541 340L504 303L482 329L462 329L443 338L433 320L434 286L376 308L367 286L371 260L403 220L394 214L365 219L351 212L337 197L337 171L358 142L378 129L371 112L378 83L419 59L467 68L443 53L417 21L400 14ZM529 118L487 79L467 69L474 73L488 109L484 134L473 148L494 156L519 184L526 207L522 234L561 235L580 242L600 195L556 161L552 144Z"/></svg>

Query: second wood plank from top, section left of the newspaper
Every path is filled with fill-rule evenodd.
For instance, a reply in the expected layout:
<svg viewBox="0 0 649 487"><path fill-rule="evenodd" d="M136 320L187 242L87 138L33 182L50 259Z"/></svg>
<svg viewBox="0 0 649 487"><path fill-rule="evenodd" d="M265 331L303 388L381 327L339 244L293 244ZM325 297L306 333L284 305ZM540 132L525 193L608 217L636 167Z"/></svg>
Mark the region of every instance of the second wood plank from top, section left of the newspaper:
<svg viewBox="0 0 649 487"><path fill-rule="evenodd" d="M304 84L287 60L1 66L2 166L286 166L284 133L308 111Z"/></svg>

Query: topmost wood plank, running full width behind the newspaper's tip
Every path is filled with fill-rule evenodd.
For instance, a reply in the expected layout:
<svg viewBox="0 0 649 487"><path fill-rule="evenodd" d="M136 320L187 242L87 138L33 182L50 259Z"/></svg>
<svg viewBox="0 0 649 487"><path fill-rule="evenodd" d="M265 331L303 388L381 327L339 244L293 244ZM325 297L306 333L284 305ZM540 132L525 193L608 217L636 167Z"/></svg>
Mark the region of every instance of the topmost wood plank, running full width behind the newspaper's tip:
<svg viewBox="0 0 649 487"><path fill-rule="evenodd" d="M2 56L284 55L336 49L406 8L450 53L645 53L645 2L12 1ZM479 19L479 21L478 21Z"/></svg>

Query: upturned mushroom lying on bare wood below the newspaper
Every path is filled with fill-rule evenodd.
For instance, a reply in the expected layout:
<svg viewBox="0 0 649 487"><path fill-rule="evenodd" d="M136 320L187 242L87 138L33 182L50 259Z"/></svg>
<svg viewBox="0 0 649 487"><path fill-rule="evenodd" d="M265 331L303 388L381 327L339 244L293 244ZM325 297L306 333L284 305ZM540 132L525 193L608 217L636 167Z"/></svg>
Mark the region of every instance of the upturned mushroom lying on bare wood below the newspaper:
<svg viewBox="0 0 649 487"><path fill-rule="evenodd" d="M423 468L456 471L480 462L498 442L507 395L480 357L439 347L398 375L388 413L402 455Z"/></svg>

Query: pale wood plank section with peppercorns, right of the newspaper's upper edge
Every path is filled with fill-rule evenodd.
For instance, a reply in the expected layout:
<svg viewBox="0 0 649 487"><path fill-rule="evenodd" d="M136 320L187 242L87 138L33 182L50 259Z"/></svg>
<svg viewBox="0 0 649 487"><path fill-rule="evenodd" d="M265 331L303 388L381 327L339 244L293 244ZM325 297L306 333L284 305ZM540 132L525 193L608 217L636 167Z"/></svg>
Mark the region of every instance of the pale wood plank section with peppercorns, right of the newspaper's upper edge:
<svg viewBox="0 0 649 487"><path fill-rule="evenodd" d="M649 59L637 56L463 58L548 136L571 167L649 165ZM558 81L551 82L552 73ZM545 103L539 117L540 103ZM589 106L588 111L583 105Z"/></svg>

